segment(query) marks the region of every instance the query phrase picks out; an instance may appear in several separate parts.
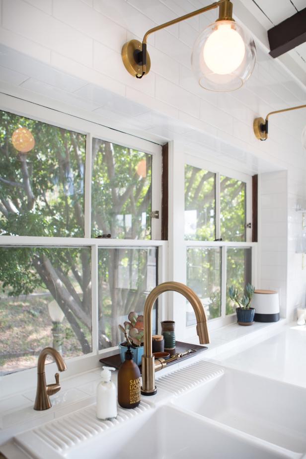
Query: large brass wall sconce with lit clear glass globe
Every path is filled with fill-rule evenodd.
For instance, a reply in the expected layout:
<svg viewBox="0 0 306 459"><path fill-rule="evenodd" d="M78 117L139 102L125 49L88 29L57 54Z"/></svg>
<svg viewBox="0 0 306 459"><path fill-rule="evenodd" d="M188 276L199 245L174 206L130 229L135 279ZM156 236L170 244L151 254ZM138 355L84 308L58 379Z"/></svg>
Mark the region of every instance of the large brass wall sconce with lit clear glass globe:
<svg viewBox="0 0 306 459"><path fill-rule="evenodd" d="M232 18L229 0L216 1L153 27L145 33L142 43L138 40L125 43L121 56L126 70L136 78L150 72L151 60L147 51L150 34L218 7L219 18L200 33L194 44L192 70L200 86L206 89L233 91L241 87L254 69L256 48L248 32Z"/></svg>

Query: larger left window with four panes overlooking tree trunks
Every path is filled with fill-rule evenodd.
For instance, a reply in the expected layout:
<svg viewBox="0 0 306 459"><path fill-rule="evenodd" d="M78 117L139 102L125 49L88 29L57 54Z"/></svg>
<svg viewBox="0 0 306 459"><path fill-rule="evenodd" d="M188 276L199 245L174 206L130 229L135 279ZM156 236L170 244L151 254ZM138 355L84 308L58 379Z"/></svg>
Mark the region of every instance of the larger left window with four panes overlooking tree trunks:
<svg viewBox="0 0 306 459"><path fill-rule="evenodd" d="M7 99L28 117L0 111L1 375L35 367L46 346L70 367L116 346L118 323L162 282L166 247L151 217L158 145Z"/></svg>

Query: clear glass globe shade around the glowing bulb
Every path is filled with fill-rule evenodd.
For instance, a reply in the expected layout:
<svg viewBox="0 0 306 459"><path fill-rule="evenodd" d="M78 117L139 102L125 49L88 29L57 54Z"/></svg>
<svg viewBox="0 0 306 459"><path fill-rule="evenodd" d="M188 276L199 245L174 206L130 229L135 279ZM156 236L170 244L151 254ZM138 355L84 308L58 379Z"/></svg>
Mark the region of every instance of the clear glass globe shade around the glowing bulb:
<svg viewBox="0 0 306 459"><path fill-rule="evenodd" d="M251 75L256 61L255 43L235 21L210 24L197 38L191 55L200 86L211 91L234 91Z"/></svg>

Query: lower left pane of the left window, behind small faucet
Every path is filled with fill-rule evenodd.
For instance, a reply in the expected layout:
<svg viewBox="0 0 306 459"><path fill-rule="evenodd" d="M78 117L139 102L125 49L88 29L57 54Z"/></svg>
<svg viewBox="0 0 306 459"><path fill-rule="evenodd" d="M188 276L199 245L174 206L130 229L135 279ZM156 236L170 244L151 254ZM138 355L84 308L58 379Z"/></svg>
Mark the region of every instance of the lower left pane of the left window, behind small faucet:
<svg viewBox="0 0 306 459"><path fill-rule="evenodd" d="M0 374L91 352L90 247L0 247ZM51 361L50 359L48 359Z"/></svg>

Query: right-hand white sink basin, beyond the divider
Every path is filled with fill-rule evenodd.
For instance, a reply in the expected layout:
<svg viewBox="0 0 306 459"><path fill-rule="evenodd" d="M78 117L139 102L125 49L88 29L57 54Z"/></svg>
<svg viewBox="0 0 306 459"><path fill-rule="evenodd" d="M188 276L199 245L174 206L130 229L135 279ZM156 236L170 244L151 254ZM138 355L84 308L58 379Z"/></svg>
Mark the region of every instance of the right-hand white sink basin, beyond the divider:
<svg viewBox="0 0 306 459"><path fill-rule="evenodd" d="M305 388L225 369L174 404L282 448L306 452Z"/></svg>

